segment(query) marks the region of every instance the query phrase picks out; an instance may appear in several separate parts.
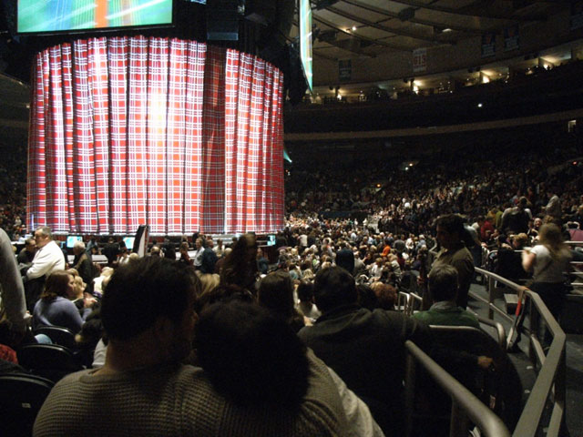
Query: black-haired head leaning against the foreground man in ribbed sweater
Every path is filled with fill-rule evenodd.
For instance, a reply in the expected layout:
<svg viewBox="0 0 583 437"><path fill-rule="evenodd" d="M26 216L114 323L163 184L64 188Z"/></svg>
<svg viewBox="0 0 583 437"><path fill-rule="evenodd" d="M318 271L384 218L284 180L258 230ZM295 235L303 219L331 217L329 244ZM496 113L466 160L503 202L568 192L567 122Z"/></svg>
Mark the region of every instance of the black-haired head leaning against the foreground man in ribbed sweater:
<svg viewBox="0 0 583 437"><path fill-rule="evenodd" d="M285 321L231 300L206 307L195 345L217 391L244 406L297 407L308 387L305 346Z"/></svg>

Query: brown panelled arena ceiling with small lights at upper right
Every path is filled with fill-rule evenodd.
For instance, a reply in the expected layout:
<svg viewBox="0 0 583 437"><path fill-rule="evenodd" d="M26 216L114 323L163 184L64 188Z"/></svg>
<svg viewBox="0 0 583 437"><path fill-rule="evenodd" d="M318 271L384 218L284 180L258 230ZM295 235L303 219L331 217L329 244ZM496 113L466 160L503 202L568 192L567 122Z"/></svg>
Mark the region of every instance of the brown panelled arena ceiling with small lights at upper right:
<svg viewBox="0 0 583 437"><path fill-rule="evenodd" d="M354 98L375 87L391 94L407 86L423 92L443 90L448 81L497 80L513 70L561 65L578 58L582 46L581 2L319 0L312 6L312 101L338 97L337 87Z"/></svg>

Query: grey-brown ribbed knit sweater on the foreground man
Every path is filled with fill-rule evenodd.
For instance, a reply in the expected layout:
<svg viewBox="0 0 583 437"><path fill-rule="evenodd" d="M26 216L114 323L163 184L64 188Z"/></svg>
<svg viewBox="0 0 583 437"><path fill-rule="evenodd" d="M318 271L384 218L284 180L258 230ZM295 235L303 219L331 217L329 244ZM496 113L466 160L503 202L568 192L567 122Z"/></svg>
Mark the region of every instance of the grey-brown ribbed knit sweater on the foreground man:
<svg viewBox="0 0 583 437"><path fill-rule="evenodd" d="M36 437L340 436L346 417L328 370L310 357L300 408L240 407L202 369L179 364L117 374L80 371L59 381L36 417ZM261 390L258 387L257 390Z"/></svg>

